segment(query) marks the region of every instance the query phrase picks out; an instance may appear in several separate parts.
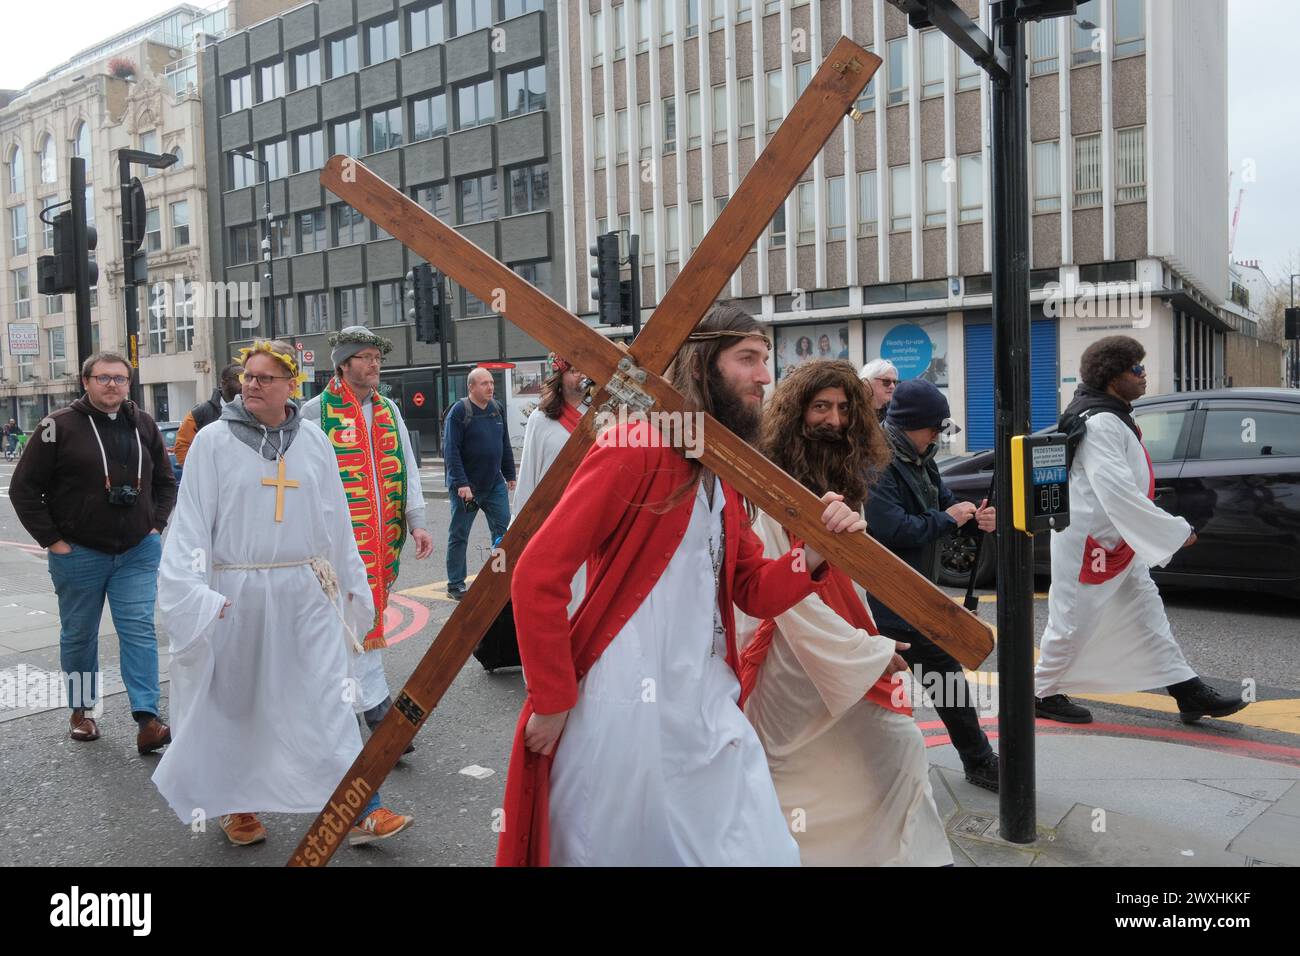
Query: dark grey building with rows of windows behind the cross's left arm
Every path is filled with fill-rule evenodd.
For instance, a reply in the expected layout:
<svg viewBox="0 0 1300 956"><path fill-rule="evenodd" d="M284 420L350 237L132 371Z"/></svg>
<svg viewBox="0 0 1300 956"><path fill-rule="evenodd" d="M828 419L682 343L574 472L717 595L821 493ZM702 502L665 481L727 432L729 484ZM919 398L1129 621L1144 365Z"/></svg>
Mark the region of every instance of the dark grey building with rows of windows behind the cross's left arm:
<svg viewBox="0 0 1300 956"><path fill-rule="evenodd" d="M382 388L432 447L439 350L416 341L404 298L417 258L326 191L320 169L334 153L360 157L555 295L566 256L550 187L563 133L547 98L559 81L554 20L551 0L321 0L205 51L208 243L214 274L250 299L250 315L216 320L217 351L274 330L311 354L312 393L332 373L328 334L373 326L395 343ZM498 372L517 444L546 350L488 303L450 291L454 395L473 364L532 359Z"/></svg>

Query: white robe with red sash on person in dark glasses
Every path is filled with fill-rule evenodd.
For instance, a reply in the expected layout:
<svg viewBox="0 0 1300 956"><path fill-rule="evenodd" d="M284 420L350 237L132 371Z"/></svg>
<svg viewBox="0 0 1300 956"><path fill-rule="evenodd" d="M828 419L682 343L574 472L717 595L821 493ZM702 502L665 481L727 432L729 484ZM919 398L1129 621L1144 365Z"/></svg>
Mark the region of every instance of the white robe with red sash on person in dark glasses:
<svg viewBox="0 0 1300 956"><path fill-rule="evenodd" d="M1145 691L1196 676L1148 570L1167 563L1192 529L1147 497L1149 484L1138 436L1118 415L1092 415L1070 468L1070 527L1052 535L1036 696ZM1083 584L1084 559L1100 561L1084 555L1089 535L1108 549L1127 541L1135 553L1128 567L1101 584Z"/></svg>

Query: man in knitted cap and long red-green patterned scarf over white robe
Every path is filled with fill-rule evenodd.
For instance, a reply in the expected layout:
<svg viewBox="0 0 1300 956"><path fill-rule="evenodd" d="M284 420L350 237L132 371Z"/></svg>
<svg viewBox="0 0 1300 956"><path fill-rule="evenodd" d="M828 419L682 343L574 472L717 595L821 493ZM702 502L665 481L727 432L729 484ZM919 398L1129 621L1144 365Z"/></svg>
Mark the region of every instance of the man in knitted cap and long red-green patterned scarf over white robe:
<svg viewBox="0 0 1300 956"><path fill-rule="evenodd" d="M393 706L384 661L384 611L398 578L407 531L415 538L415 557L433 553L424 523L420 463L396 402L381 395L380 369L393 342L364 325L350 325L329 337L334 377L325 392L303 406L303 418L325 432L334 449L335 467L347 493L356 548L365 564L374 620L367 628L365 652L355 661L356 709L373 731ZM415 744L407 747L407 753Z"/></svg>

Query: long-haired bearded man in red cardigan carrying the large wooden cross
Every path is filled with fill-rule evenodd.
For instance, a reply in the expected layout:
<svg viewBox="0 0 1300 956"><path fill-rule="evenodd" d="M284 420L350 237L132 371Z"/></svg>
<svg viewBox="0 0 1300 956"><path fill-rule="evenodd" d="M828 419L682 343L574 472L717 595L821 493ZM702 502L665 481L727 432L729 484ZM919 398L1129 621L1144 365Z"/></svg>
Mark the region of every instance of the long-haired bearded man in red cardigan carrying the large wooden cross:
<svg viewBox="0 0 1300 956"><path fill-rule="evenodd" d="M751 440L767 355L760 325L718 306L672 382ZM528 698L499 865L798 864L763 748L736 706L732 604L780 614L827 568L811 549L763 558L744 499L659 438L646 421L598 437L519 558L511 597ZM864 529L837 494L822 501L828 531ZM569 584L588 559L569 619Z"/></svg>

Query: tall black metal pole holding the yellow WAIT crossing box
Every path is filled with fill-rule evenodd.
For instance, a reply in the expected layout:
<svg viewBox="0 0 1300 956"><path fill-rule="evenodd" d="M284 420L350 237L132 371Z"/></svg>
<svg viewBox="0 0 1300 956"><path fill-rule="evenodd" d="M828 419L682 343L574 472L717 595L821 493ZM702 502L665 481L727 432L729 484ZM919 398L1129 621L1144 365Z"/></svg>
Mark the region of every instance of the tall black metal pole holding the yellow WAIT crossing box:
<svg viewBox="0 0 1300 956"><path fill-rule="evenodd" d="M1011 436L1030 432L1030 258L1024 26L1015 3L993 4L994 43L1009 79L994 79L992 108L994 475L1011 472ZM1036 836L1034 765L1034 538L1010 527L1011 483L997 483L997 675L1000 834Z"/></svg>

